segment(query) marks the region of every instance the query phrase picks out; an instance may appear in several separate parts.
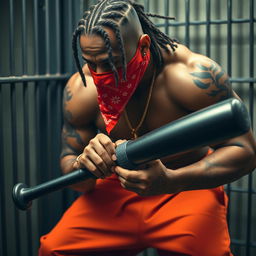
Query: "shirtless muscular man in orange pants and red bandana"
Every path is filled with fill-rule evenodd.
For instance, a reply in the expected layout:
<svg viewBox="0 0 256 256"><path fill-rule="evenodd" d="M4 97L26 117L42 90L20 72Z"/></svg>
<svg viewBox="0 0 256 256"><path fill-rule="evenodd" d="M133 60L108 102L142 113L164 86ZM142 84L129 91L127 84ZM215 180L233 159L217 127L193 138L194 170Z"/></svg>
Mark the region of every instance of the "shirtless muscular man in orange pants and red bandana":
<svg viewBox="0 0 256 256"><path fill-rule="evenodd" d="M255 168L251 131L139 170L115 164L120 140L238 97L217 63L167 37L149 15L132 0L103 0L74 33L79 72L64 91L61 167L85 167L98 179L73 186L83 194L41 238L41 256L136 255L147 247L165 256L232 255L222 185Z"/></svg>

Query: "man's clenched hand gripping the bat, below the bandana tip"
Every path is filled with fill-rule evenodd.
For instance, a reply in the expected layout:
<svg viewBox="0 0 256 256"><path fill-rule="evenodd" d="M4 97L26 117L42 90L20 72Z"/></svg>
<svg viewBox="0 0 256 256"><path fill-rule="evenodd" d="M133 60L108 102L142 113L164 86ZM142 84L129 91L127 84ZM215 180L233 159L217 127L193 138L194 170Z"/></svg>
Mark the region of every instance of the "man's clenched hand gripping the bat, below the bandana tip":
<svg viewBox="0 0 256 256"><path fill-rule="evenodd" d="M106 178L113 174L115 166L115 144L103 134L97 134L84 148L82 154L77 157L74 168L86 168L98 178Z"/></svg>

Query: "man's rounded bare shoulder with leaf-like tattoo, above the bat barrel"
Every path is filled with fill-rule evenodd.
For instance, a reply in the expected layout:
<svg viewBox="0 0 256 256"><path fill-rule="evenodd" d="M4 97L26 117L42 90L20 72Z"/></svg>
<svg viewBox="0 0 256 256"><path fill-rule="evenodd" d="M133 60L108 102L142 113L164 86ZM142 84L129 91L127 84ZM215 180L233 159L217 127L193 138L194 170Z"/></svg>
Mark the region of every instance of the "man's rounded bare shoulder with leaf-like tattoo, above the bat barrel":
<svg viewBox="0 0 256 256"><path fill-rule="evenodd" d="M228 76L212 59L179 45L163 69L172 100L195 111L229 97Z"/></svg>

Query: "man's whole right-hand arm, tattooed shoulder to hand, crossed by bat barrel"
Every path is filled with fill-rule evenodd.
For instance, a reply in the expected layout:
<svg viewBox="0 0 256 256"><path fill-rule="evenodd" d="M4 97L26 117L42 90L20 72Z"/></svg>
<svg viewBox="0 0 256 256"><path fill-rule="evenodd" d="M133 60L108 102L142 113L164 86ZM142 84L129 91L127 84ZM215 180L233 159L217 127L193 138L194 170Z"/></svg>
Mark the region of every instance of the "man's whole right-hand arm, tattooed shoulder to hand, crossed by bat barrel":
<svg viewBox="0 0 256 256"><path fill-rule="evenodd" d="M179 69L176 74L180 72ZM173 79L175 72L171 75ZM177 78L176 84L179 84L178 90L182 92L180 102L189 111L197 111L229 97L237 97L231 90L227 74L206 57L195 58L179 77L182 78ZM184 92L187 93L187 98L183 97ZM209 146L214 149L212 154L177 170L168 169L161 161L156 160L140 171L129 172L116 167L116 172L124 188L141 195L154 195L227 184L252 172L256 167L256 143L252 131Z"/></svg>

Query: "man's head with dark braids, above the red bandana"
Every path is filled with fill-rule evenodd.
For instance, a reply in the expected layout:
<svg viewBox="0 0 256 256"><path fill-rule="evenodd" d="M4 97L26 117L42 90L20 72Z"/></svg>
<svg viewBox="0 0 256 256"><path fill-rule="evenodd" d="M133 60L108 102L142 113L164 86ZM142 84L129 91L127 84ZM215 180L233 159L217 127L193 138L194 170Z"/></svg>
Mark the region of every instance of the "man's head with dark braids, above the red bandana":
<svg viewBox="0 0 256 256"><path fill-rule="evenodd" d="M85 78L77 53L77 38L80 39L83 57L88 64L103 67L101 64L107 63L117 80L117 67L122 67L123 78L126 79L127 62L135 54L139 41L142 41L141 50L150 50L156 65L162 67L160 47L168 50L169 44L174 50L175 40L158 30L147 16L155 15L146 14L143 6L133 0L101 0L85 12L74 32L72 44L75 61L84 84ZM103 68L98 70L104 71Z"/></svg>

